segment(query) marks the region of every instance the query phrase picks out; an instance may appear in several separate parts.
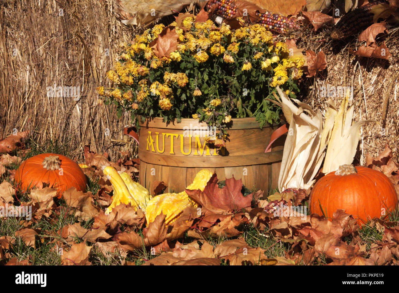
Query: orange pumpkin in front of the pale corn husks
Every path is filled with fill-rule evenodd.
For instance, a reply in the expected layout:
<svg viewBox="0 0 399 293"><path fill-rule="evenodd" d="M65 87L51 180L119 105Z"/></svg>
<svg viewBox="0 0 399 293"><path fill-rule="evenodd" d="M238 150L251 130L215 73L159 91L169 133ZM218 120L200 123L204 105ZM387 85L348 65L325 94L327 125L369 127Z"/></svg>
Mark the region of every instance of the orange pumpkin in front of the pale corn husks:
<svg viewBox="0 0 399 293"><path fill-rule="evenodd" d="M310 212L332 218L338 208L358 219L360 225L372 218L385 218L398 205L395 187L383 173L342 165L314 185ZM322 211L323 210L323 211Z"/></svg>

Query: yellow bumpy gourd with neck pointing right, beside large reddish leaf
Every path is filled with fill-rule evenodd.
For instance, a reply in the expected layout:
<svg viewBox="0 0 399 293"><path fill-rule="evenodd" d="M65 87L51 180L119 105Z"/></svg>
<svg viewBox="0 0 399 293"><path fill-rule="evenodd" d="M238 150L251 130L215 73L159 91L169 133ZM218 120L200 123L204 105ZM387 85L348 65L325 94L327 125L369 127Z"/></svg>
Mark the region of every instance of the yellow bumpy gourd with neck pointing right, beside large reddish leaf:
<svg viewBox="0 0 399 293"><path fill-rule="evenodd" d="M194 178L192 184L188 185L187 189L203 191L209 179L211 179L212 173L203 169L199 171ZM178 216L183 210L189 206L196 206L194 202L190 200L186 191L180 193L164 193L152 198L145 211L147 223L153 222L161 212L166 214L166 225L176 221Z"/></svg>

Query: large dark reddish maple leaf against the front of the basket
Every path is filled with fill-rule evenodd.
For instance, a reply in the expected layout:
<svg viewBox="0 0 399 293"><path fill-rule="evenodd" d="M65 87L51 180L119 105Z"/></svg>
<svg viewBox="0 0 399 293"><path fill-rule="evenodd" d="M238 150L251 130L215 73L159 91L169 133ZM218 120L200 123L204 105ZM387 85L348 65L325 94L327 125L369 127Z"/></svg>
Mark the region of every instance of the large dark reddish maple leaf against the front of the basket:
<svg viewBox="0 0 399 293"><path fill-rule="evenodd" d="M227 213L230 210L241 210L251 206L252 194L243 196L241 189L243 183L232 178L226 179L223 189L217 184L216 174L209 179L203 191L186 189L186 193L202 207L213 212Z"/></svg>

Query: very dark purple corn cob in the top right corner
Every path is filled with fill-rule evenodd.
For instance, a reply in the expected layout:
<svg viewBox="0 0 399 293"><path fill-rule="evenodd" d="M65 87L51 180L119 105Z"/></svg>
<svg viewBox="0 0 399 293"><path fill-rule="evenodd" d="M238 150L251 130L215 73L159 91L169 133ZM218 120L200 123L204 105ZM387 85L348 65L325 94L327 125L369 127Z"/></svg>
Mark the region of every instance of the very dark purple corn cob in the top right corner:
<svg viewBox="0 0 399 293"><path fill-rule="evenodd" d="M355 33L366 29L373 22L373 10L375 10L379 5L386 3L387 1L385 0L377 0L348 12L342 16L340 21L331 31L331 38L334 40L345 39L350 35L354 35Z"/></svg>

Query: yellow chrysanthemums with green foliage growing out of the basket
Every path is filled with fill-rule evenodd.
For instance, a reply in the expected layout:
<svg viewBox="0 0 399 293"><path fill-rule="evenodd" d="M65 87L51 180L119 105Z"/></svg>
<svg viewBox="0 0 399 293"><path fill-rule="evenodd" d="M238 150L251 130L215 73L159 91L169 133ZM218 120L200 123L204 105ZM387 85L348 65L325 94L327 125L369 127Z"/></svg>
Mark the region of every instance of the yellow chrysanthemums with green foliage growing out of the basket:
<svg viewBox="0 0 399 293"><path fill-rule="evenodd" d="M167 38L174 45L160 50L158 43L165 46ZM117 104L119 113L131 111L136 126L138 116L194 118L217 126L218 137L208 139L217 147L225 145L232 118L253 116L260 126L279 122L280 109L267 98L274 98L277 86L295 98L304 65L259 24L233 30L211 20L196 22L195 16L146 29L122 47L107 73L113 87L97 88L99 95Z"/></svg>

